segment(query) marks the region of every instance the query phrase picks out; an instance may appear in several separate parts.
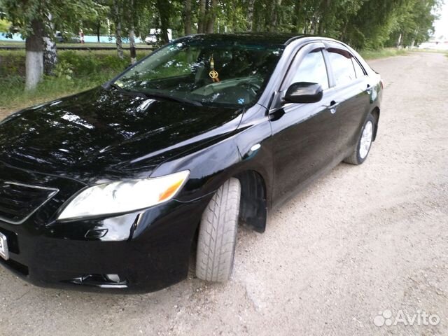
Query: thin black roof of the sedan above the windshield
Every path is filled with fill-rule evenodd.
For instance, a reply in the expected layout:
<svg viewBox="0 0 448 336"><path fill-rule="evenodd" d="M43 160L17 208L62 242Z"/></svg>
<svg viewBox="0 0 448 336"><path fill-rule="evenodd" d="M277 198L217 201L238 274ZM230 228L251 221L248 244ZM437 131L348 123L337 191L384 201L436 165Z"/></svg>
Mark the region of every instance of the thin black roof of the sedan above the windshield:
<svg viewBox="0 0 448 336"><path fill-rule="evenodd" d="M297 35L294 33L229 33L229 34L194 34L185 36L200 38L205 41L237 41L240 43L260 43L274 45L288 45L292 41L311 35Z"/></svg>

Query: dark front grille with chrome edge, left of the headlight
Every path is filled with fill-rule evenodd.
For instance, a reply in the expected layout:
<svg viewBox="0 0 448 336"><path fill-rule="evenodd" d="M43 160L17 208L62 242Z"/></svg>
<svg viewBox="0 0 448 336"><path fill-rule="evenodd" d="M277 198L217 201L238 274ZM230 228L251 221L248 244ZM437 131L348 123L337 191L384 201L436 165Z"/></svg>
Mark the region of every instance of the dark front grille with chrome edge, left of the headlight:
<svg viewBox="0 0 448 336"><path fill-rule="evenodd" d="M0 181L0 221L22 224L58 190L9 181Z"/></svg>

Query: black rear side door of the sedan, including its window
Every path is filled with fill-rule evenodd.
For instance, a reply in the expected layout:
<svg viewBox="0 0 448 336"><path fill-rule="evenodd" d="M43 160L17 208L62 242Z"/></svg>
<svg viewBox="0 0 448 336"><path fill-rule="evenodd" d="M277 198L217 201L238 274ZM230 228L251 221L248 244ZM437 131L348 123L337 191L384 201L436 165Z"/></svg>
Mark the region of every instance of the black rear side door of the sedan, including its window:
<svg viewBox="0 0 448 336"><path fill-rule="evenodd" d="M330 85L337 92L335 114L340 125L335 154L342 160L358 141L369 112L372 87L365 70L344 45L327 44L325 55L331 71Z"/></svg>

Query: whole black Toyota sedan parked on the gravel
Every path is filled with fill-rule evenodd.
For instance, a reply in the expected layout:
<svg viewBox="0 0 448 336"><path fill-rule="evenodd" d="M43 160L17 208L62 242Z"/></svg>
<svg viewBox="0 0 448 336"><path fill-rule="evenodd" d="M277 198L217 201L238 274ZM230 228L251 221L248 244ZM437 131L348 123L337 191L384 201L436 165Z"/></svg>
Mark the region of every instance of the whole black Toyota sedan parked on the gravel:
<svg viewBox="0 0 448 336"><path fill-rule="evenodd" d="M180 38L92 90L0 123L0 262L39 286L226 281L239 223L360 165L383 85L313 36Z"/></svg>

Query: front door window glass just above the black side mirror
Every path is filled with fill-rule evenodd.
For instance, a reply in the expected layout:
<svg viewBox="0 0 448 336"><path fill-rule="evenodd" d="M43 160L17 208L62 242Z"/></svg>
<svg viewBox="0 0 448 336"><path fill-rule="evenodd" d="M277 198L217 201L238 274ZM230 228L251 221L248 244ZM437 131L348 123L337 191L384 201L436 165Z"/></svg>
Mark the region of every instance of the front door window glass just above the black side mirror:
<svg viewBox="0 0 448 336"><path fill-rule="evenodd" d="M291 81L297 82L318 83L322 85L323 90L328 89L327 67L320 49L309 52L302 59Z"/></svg>

